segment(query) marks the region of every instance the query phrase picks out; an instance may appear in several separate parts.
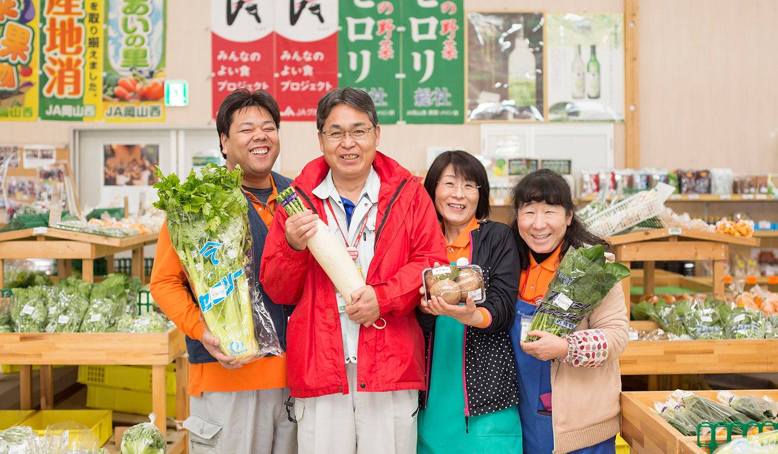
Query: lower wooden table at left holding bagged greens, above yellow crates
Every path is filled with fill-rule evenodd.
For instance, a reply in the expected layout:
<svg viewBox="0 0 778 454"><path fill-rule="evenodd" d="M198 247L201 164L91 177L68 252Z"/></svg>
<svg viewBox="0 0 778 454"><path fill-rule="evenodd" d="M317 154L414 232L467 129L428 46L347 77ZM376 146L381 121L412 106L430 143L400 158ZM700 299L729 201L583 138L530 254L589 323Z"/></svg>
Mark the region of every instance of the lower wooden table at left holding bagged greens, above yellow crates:
<svg viewBox="0 0 778 454"><path fill-rule="evenodd" d="M40 365L40 408L54 404L51 365L151 365L152 409L156 426L165 430L165 366L176 361L177 418L188 413L189 380L184 333L2 333L0 363L20 365L21 409L33 407L32 365Z"/></svg>

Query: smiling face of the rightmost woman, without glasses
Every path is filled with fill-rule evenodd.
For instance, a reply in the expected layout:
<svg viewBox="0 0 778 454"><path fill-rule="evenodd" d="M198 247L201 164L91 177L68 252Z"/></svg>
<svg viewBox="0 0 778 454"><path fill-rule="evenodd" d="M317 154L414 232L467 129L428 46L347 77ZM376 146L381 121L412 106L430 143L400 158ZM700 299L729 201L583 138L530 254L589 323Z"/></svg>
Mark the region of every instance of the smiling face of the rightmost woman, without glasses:
<svg viewBox="0 0 778 454"><path fill-rule="evenodd" d="M553 252L562 244L567 226L573 222L562 205L531 202L520 207L516 214L519 236L536 253Z"/></svg>

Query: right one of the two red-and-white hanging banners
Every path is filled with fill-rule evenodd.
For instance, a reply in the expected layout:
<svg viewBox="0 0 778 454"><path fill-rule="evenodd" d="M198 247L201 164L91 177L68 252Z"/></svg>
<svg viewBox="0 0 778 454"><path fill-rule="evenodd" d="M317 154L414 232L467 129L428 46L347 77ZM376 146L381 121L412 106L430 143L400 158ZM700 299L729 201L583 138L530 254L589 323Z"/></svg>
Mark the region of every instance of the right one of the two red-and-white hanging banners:
<svg viewBox="0 0 778 454"><path fill-rule="evenodd" d="M319 99L338 86L338 0L275 5L273 93L281 118L316 120Z"/></svg>

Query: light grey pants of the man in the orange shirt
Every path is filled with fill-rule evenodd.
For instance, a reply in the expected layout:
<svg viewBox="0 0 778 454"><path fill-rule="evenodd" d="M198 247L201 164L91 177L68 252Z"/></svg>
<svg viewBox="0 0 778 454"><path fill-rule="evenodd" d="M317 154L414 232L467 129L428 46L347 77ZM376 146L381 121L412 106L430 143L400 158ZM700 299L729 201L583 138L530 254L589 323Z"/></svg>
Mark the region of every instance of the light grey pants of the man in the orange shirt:
<svg viewBox="0 0 778 454"><path fill-rule="evenodd" d="M297 428L284 405L289 388L205 392L189 399L184 428L190 454L296 454Z"/></svg>

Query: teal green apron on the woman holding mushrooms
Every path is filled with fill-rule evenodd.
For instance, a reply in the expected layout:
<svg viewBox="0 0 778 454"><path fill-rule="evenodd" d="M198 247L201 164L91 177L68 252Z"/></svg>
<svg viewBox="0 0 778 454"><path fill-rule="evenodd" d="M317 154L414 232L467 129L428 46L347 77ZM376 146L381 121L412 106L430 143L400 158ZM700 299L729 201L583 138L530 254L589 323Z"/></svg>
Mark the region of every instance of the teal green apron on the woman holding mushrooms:
<svg viewBox="0 0 778 454"><path fill-rule="evenodd" d="M438 316L427 407L419 411L417 452L520 453L517 406L471 416L465 422L463 354L464 325L449 316Z"/></svg>

